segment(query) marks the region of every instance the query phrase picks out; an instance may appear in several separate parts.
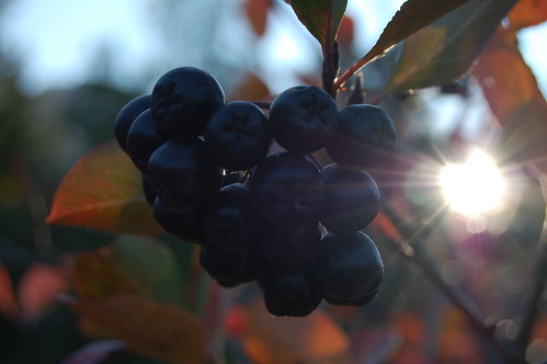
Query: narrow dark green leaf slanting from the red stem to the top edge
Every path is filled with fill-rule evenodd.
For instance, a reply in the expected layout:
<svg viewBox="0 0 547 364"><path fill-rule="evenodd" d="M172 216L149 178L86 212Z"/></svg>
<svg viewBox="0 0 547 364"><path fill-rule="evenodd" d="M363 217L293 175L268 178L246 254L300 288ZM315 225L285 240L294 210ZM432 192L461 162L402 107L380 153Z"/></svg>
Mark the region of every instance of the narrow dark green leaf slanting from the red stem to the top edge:
<svg viewBox="0 0 547 364"><path fill-rule="evenodd" d="M374 47L340 77L337 86L341 87L362 67L383 56L394 45L467 1L469 0L408 0L387 24Z"/></svg>

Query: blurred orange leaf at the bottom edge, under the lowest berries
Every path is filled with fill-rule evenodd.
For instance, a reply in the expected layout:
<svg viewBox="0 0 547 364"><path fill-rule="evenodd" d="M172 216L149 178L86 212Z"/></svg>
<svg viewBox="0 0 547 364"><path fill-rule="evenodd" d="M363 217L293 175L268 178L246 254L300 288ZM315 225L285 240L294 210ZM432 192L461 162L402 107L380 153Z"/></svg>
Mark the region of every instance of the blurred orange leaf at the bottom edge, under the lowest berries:
<svg viewBox="0 0 547 364"><path fill-rule="evenodd" d="M231 325L239 320L244 327L239 330L253 363L350 362L346 334L320 310L305 318L277 318L270 315L259 299L244 306L244 311L233 312L237 316L231 318Z"/></svg>

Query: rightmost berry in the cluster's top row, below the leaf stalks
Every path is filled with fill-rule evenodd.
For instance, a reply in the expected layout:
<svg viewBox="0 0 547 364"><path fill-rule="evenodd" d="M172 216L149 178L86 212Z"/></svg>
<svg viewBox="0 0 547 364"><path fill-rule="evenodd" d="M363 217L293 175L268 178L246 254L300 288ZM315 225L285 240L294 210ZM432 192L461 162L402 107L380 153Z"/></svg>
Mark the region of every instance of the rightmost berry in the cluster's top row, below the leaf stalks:
<svg viewBox="0 0 547 364"><path fill-rule="evenodd" d="M337 130L326 150L340 164L381 168L392 161L396 138L395 125L381 109L354 104L340 111Z"/></svg>

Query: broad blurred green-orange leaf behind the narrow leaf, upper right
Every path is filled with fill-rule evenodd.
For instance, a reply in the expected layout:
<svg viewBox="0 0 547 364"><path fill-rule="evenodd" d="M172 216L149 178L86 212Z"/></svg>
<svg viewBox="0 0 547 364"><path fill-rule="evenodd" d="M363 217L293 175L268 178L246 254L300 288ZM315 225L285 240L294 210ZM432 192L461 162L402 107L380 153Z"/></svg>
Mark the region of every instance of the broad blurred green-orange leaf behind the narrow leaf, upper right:
<svg viewBox="0 0 547 364"><path fill-rule="evenodd" d="M463 76L516 1L472 0L408 37L380 94L441 86Z"/></svg>

